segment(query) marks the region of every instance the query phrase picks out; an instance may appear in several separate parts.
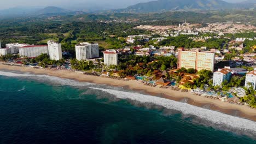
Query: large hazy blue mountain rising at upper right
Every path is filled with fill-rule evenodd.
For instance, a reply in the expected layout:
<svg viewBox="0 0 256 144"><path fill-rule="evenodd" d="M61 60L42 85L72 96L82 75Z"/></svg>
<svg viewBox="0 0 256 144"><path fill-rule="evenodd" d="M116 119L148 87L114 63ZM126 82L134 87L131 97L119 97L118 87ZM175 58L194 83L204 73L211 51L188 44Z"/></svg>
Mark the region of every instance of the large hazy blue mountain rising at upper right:
<svg viewBox="0 0 256 144"><path fill-rule="evenodd" d="M253 0L250 0L253 1ZM247 8L247 4L233 4L222 0L158 0L147 3L138 3L120 9L123 13L150 13L172 10L218 10L231 8Z"/></svg>

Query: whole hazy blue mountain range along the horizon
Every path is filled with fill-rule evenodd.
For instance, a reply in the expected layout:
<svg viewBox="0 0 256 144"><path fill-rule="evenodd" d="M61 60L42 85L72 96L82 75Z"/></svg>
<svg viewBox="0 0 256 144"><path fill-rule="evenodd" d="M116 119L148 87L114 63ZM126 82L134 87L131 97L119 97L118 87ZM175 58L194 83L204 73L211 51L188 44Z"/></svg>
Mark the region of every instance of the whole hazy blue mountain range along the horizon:
<svg viewBox="0 0 256 144"><path fill-rule="evenodd" d="M83 10L68 10L59 7L33 7L33 8L9 8L0 10L0 17L7 16L38 16L38 15L78 15L91 12L106 13L161 13L165 11L179 10L223 10L223 9L248 9L256 8L256 0L246 0L241 3L228 3L222 0L156 0L145 3L131 5L124 9L91 11ZM86 13L85 13L86 11Z"/></svg>

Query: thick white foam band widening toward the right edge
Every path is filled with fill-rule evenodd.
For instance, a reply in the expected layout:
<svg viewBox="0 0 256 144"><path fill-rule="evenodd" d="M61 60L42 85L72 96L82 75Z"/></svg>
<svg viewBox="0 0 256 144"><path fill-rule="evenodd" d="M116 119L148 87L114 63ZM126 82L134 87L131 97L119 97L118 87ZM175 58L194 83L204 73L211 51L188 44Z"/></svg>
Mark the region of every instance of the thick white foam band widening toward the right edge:
<svg viewBox="0 0 256 144"><path fill-rule="evenodd" d="M119 99L130 99L139 101L141 103L150 103L155 105L160 105L166 107L166 109L176 110L183 113L183 115L192 115L199 117L202 121L207 121L213 123L214 125L218 125L218 127L226 127L232 130L239 130L243 132L247 132L248 135L255 136L256 135L256 122L250 121L248 119L235 117L226 115L221 112L212 111L203 109L201 107L189 105L187 103L181 103L178 101L173 101L170 99L164 99L159 97L152 97L150 95L144 95L139 93L131 93L131 92L121 92L113 89L103 89L103 88L94 88L92 89L101 90L103 92L114 95ZM212 125L212 124L210 124ZM245 134L242 133L242 134Z"/></svg>

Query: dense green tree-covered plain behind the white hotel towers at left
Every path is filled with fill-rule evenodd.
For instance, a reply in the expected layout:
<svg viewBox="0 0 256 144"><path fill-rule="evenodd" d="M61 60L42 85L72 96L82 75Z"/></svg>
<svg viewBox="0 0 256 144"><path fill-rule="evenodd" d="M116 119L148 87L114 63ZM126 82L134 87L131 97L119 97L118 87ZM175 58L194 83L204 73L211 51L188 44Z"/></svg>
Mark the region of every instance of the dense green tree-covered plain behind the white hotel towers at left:
<svg viewBox="0 0 256 144"><path fill-rule="evenodd" d="M135 24L119 22L10 22L11 26L0 24L0 39L2 47L7 43L46 44L54 39L62 44L62 50L74 52L78 42L98 42L105 49L120 48L126 45L127 35L148 33L133 29Z"/></svg>

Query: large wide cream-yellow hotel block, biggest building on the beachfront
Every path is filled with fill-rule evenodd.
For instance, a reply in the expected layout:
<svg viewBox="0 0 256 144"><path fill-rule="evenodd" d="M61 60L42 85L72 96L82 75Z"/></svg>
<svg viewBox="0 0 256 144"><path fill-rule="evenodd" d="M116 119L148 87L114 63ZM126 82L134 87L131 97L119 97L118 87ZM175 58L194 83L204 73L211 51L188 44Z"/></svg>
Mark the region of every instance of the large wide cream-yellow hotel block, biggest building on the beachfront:
<svg viewBox="0 0 256 144"><path fill-rule="evenodd" d="M178 49L178 69L193 68L198 71L202 69L214 70L215 49L201 51L200 49L185 50Z"/></svg>

